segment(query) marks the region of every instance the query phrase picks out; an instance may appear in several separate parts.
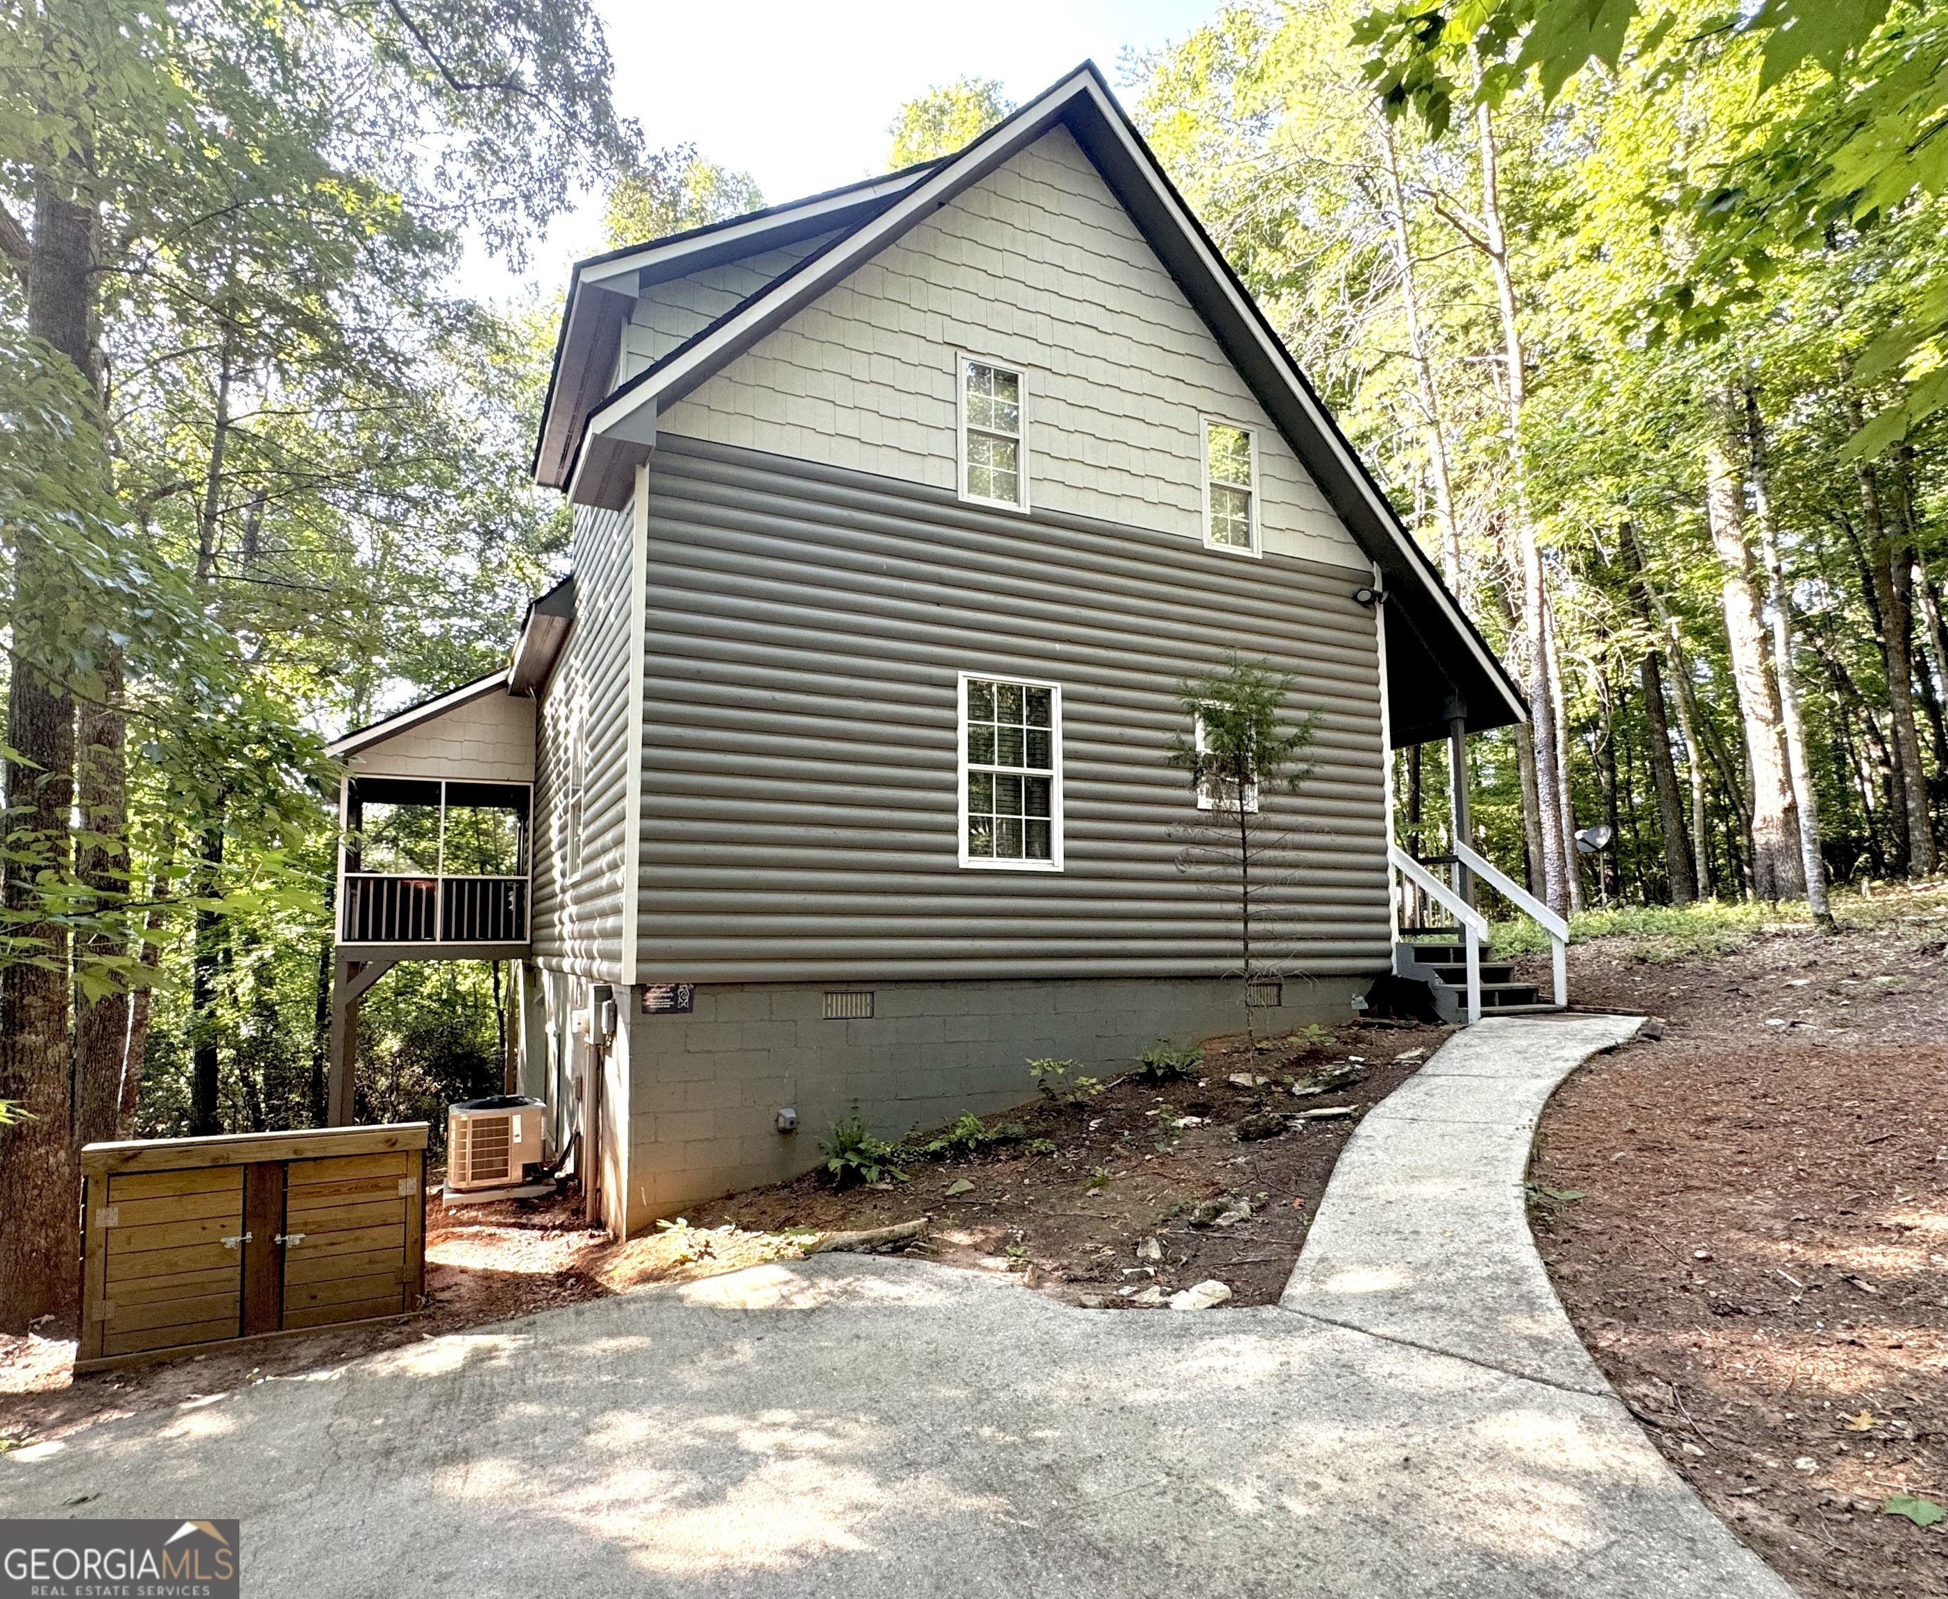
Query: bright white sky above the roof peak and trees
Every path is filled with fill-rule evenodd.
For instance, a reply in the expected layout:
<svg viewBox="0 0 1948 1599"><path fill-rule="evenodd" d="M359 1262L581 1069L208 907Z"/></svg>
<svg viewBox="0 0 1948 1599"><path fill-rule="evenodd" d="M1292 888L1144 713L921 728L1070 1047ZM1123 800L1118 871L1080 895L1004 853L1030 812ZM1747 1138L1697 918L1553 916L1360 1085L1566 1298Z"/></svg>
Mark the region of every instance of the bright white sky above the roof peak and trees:
<svg viewBox="0 0 1948 1599"><path fill-rule="evenodd" d="M1093 58L1120 86L1118 58L1182 39L1218 0L594 0L616 60L618 109L651 148L695 144L748 171L768 205L884 169L886 127L933 84L999 78L1027 99ZM462 290L505 300L524 284L567 288L569 263L602 249L600 201L549 228L510 275L477 245Z"/></svg>

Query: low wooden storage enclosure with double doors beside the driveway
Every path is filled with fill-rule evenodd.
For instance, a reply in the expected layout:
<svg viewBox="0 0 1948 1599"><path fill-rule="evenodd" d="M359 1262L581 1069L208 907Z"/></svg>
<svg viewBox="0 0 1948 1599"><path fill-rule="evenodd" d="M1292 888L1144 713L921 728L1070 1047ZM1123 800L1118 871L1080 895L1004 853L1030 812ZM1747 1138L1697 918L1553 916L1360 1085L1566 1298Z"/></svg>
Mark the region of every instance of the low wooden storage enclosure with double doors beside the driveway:
<svg viewBox="0 0 1948 1599"><path fill-rule="evenodd" d="M417 1311L427 1124L82 1149L76 1371Z"/></svg>

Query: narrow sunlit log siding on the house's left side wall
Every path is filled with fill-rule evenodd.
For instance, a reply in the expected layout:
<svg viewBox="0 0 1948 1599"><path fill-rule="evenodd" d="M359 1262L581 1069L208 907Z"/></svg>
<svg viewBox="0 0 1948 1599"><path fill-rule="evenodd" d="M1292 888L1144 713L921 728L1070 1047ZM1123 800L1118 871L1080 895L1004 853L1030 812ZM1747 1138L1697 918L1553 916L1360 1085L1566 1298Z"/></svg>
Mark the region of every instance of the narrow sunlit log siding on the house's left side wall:
<svg viewBox="0 0 1948 1599"><path fill-rule="evenodd" d="M534 954L612 978L621 964L629 814L629 555L635 512L575 512L575 629L542 691L536 773ZM569 837L581 742L581 851Z"/></svg>

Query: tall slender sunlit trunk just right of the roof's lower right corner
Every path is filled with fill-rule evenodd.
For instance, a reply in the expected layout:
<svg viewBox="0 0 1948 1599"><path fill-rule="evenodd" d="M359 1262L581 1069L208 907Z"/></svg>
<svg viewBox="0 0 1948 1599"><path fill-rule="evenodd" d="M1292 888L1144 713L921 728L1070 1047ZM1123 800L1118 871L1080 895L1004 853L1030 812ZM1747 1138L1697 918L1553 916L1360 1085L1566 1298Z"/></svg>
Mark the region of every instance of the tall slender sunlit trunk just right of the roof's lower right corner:
<svg viewBox="0 0 1948 1599"><path fill-rule="evenodd" d="M1527 362L1521 349L1521 319L1516 314L1516 279L1508 263L1508 232L1502 226L1502 173L1494 148L1494 119L1488 103L1475 107L1475 144L1480 158L1480 214L1486 230L1484 253L1494 277L1502 312L1502 353L1506 374L1502 407L1508 425L1510 502L1516 522L1516 549L1521 559L1521 633L1529 651L1529 726L1535 767L1535 818L1541 836L1543 898L1558 915L1570 908L1568 863L1562 855L1562 828L1553 822L1560 810L1560 771L1555 740L1555 695L1549 691L1549 649L1543 639L1543 547L1529 516L1527 471L1521 448L1521 407L1527 399Z"/></svg>

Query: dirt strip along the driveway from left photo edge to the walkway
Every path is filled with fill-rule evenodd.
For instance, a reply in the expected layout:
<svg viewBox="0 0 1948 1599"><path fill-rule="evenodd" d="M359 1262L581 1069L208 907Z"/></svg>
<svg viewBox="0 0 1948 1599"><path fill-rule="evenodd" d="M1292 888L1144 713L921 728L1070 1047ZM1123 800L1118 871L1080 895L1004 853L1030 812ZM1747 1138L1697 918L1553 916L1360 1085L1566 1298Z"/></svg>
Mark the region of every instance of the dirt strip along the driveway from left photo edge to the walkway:
<svg viewBox="0 0 1948 1599"><path fill-rule="evenodd" d="M228 1393L275 1375L670 1282L795 1256L816 1233L925 1217L908 1252L1015 1272L1099 1307L1142 1307L1206 1280L1233 1303L1274 1301L1358 1114L1424 1061L1449 1028L1358 1023L1249 1048L1231 1040L1167 1083L1034 1098L990 1116L1005 1141L896 1157L904 1180L836 1192L824 1174L699 1206L684 1225L610 1243L581 1206L522 1200L427 1209L427 1309L386 1326L267 1340L127 1371L72 1377L74 1330L0 1336L0 1449ZM1315 1087L1323 1073L1330 1087ZM1025 1089L1032 1089L1023 1071ZM1301 1093L1293 1095L1293 1085ZM1293 1122L1303 1112L1350 1112ZM1247 1132L1268 1134L1241 1141ZM1151 1252L1153 1250L1153 1252Z"/></svg>

